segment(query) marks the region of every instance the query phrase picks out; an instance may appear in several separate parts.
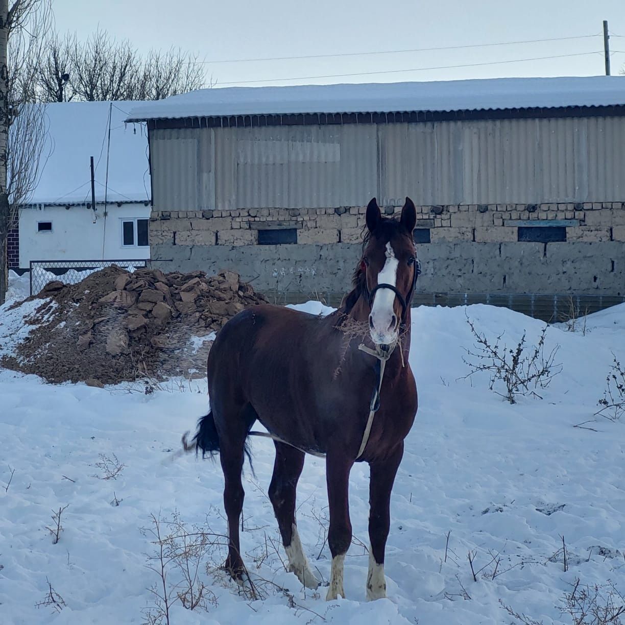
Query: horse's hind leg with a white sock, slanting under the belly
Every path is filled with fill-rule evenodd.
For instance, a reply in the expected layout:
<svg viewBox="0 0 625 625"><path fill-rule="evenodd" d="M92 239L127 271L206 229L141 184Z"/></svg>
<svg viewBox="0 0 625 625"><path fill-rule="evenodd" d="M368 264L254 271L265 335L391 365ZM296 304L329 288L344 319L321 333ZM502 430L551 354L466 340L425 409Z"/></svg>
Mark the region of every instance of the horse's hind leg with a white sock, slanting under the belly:
<svg viewBox="0 0 625 625"><path fill-rule="evenodd" d="M269 499L276 513L291 571L304 586L314 590L319 586L319 581L308 566L295 522L297 481L303 468L304 452L282 442L276 442L276 461L269 485Z"/></svg>

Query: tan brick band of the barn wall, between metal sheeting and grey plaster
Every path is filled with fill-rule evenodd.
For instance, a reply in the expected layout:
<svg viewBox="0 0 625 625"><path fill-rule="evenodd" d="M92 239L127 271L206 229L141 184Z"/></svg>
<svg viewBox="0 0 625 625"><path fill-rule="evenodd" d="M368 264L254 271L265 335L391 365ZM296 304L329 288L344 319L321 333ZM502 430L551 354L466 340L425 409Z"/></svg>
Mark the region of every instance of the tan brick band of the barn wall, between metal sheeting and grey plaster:
<svg viewBox="0 0 625 625"><path fill-rule="evenodd" d="M386 214L401 211L387 207ZM357 243L366 207L154 211L151 245L247 246L263 228L295 228L301 244ZM625 241L625 202L562 204L461 204L417 206L417 228L429 228L431 242L517 241L524 221L566 222L567 241Z"/></svg>

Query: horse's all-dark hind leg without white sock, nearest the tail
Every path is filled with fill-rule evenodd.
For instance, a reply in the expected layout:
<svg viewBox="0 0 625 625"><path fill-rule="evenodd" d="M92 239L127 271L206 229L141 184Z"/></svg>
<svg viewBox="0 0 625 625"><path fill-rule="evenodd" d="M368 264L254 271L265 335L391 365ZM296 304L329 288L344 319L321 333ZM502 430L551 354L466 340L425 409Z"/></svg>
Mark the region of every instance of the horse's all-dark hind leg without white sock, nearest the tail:
<svg viewBox="0 0 625 625"><path fill-rule="evenodd" d="M217 425L219 459L224 472L224 509L226 509L228 521L228 556L224 568L234 579L241 581L243 573L246 572L241 557L241 542L239 541L239 518L245 497L241 472L245 440L254 418L252 418L249 407L227 411L227 414L229 415L228 421L219 421Z"/></svg>

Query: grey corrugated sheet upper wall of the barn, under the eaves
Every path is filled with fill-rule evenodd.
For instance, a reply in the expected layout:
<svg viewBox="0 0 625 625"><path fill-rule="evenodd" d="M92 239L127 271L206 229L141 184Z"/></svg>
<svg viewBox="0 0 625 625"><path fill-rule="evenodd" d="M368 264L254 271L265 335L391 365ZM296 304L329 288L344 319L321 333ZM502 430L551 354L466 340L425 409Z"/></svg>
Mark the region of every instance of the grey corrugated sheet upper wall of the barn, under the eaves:
<svg viewBox="0 0 625 625"><path fill-rule="evenodd" d="M151 131L154 210L601 202L625 192L625 118Z"/></svg>

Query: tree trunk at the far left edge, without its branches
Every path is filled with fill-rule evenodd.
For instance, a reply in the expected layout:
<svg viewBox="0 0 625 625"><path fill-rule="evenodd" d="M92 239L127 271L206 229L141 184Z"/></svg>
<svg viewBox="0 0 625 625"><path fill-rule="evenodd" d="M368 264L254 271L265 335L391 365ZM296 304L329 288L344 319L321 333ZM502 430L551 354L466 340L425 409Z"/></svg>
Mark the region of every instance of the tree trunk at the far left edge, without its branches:
<svg viewBox="0 0 625 625"><path fill-rule="evenodd" d="M4 304L9 281L7 241L10 209L6 176L6 150L9 138L8 16L9 0L0 0L0 304Z"/></svg>

